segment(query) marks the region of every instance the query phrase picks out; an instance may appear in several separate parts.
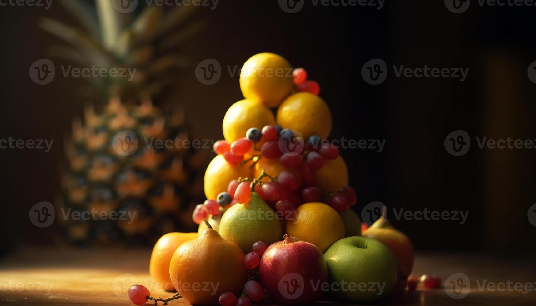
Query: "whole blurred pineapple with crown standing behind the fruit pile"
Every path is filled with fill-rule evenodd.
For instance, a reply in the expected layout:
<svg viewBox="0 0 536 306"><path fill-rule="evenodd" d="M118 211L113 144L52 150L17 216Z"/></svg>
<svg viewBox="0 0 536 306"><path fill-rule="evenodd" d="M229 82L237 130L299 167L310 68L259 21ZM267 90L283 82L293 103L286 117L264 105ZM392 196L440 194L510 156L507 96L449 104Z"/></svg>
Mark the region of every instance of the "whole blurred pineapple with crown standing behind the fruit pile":
<svg viewBox="0 0 536 306"><path fill-rule="evenodd" d="M205 152L173 142L192 137L185 115L176 106L163 111L152 99L165 98L187 65L177 48L202 29L200 23L185 23L196 6L167 8L166 13L160 6L146 6L125 14L115 10L110 0L95 0L95 7L85 0L60 2L85 30L43 19L43 29L71 44L51 48L52 55L81 68L136 69L130 81L90 78L93 96L105 103L100 111L86 107L83 121L73 120L72 133L65 140L69 162L58 206L64 212L89 212L92 218L58 218L67 241L151 244L162 234L191 230L193 206L203 200ZM114 138L122 139L121 133L137 138L137 150L118 151L120 144ZM157 140L173 145L154 145ZM147 146L151 141L153 145ZM111 211L126 220L95 218L99 212ZM130 215L122 216L123 212ZM57 209L57 213L62 212Z"/></svg>

